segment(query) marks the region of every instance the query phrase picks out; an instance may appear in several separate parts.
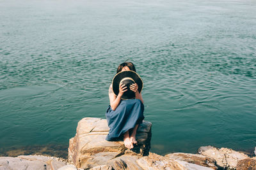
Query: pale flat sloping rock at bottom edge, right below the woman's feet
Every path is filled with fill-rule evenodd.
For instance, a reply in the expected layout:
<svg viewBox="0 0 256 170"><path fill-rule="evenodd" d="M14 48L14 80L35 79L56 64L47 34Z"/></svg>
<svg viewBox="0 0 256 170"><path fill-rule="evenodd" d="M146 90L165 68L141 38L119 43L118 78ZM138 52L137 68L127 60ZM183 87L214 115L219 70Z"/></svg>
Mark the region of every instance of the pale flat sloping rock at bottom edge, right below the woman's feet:
<svg viewBox="0 0 256 170"><path fill-rule="evenodd" d="M168 159L167 157L163 157L161 155L157 155L156 153L150 153L146 157L141 157L140 159L136 160L138 165L142 169L177 169L177 170L184 170L184 169L193 169L193 170L208 170L211 169L209 167L198 166L196 164L191 164L188 162L184 162L182 160L174 160Z"/></svg>

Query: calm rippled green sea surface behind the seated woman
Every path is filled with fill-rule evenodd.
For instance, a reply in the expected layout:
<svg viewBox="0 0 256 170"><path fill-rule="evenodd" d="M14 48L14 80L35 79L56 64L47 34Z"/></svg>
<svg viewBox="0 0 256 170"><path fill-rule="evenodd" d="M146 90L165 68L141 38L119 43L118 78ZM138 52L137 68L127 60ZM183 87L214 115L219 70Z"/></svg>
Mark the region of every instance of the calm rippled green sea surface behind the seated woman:
<svg viewBox="0 0 256 170"><path fill-rule="evenodd" d="M125 60L152 152L256 146L256 1L1 0L0 148L68 146Z"/></svg>

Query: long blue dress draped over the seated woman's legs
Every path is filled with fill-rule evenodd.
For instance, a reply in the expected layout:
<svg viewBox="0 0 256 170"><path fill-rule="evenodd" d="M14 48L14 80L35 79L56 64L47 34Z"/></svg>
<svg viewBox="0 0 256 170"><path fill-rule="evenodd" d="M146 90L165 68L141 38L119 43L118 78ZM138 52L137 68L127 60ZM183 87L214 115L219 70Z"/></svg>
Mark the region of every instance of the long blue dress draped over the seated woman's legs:
<svg viewBox="0 0 256 170"><path fill-rule="evenodd" d="M121 100L115 111L109 105L106 118L110 129L106 140L119 140L126 131L134 128L136 124L141 124L145 118L143 111L144 105L140 99Z"/></svg>

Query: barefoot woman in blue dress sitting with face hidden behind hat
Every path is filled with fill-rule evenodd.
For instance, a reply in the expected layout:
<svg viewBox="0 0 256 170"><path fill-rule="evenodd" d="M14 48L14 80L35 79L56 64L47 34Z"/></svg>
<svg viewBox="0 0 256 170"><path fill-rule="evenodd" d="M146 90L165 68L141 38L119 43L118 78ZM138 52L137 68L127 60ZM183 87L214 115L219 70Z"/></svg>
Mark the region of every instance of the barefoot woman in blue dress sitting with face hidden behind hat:
<svg viewBox="0 0 256 170"><path fill-rule="evenodd" d="M130 70L136 72L132 62L123 62L118 66L116 74ZM144 105L137 83L130 85L129 89L135 93L135 99L123 100L121 97L127 91L127 87L120 83L119 93L116 96L113 92L112 84L109 86L110 105L106 111L106 118L110 129L106 140L115 141L116 139L123 138L125 147L131 149L134 147L134 144L137 144L136 132L138 125L144 119Z"/></svg>

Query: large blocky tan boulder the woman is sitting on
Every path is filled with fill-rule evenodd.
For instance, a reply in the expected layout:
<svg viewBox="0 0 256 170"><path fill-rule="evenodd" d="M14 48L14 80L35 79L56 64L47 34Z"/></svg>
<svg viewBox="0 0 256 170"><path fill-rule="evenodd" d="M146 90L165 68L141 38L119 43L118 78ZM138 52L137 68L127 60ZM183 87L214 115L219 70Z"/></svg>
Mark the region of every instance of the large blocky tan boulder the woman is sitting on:
<svg viewBox="0 0 256 170"><path fill-rule="evenodd" d="M138 145L132 150L124 141L106 141L109 127L106 119L86 117L78 122L76 136L69 141L68 160L76 167L89 169L102 166L121 155L148 155L150 150L151 123L143 120L138 127Z"/></svg>

